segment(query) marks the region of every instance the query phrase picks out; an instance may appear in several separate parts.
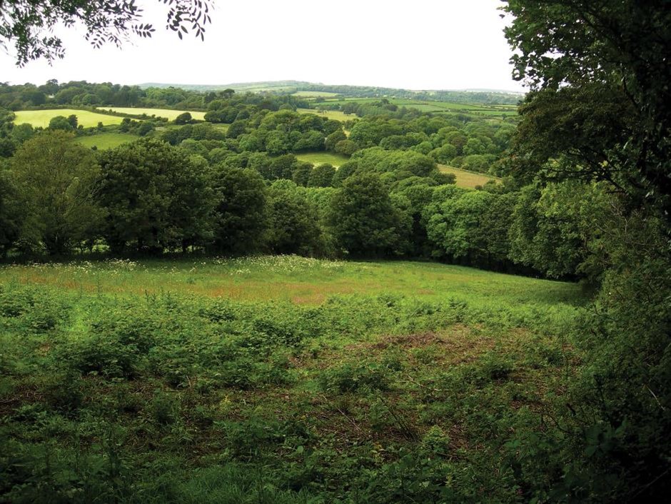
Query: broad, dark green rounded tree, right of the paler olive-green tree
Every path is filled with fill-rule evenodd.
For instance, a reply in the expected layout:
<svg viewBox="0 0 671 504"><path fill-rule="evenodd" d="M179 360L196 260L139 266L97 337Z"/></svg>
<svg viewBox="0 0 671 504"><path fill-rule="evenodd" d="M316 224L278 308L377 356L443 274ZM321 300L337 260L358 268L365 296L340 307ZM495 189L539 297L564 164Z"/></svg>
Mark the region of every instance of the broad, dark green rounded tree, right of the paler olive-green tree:
<svg viewBox="0 0 671 504"><path fill-rule="evenodd" d="M160 252L211 240L210 174L196 157L153 138L101 155L100 203L112 251L133 244L138 251Z"/></svg>

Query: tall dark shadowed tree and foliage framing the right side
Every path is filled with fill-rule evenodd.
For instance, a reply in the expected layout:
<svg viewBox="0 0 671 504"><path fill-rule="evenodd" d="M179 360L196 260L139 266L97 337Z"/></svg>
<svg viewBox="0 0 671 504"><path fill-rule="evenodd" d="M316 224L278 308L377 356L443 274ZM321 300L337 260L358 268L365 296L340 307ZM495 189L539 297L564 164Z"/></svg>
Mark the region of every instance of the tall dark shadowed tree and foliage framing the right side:
<svg viewBox="0 0 671 504"><path fill-rule="evenodd" d="M588 206L570 235L590 252L580 268L604 255L610 264L595 310L575 331L585 366L562 400L570 411L559 410L567 446L553 453L561 471L553 493L662 501L671 492L671 9L664 0L509 0L504 10L514 16L506 36L515 78L533 91L520 109L513 172L604 181L610 193L598 207L605 223ZM525 209L531 225L517 233L525 243L543 243L547 217L581 216L570 211L580 205L565 204L575 188L556 189Z"/></svg>

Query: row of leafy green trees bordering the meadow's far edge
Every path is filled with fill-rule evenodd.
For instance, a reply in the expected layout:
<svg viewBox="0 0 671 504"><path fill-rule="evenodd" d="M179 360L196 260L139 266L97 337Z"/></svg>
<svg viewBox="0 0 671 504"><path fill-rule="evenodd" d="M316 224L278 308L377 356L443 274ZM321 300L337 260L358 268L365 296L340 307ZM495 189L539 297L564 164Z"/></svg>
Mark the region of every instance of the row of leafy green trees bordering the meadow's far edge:
<svg viewBox="0 0 671 504"><path fill-rule="evenodd" d="M602 272L589 261L585 221L612 203L598 184L473 191L428 156L380 147L336 169L291 153L213 162L159 138L99 152L72 140L42 131L4 162L3 255L269 252L433 258L554 278Z"/></svg>

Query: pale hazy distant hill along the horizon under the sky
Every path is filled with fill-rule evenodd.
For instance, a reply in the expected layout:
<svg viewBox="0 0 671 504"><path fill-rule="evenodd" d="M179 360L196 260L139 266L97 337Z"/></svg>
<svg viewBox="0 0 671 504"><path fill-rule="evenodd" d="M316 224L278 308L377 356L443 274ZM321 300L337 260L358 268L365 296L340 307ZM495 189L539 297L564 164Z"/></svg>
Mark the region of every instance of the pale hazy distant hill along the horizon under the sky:
<svg viewBox="0 0 671 504"><path fill-rule="evenodd" d="M298 91L322 91L343 97L359 96L364 98L405 98L428 101L455 101L464 104L515 105L524 96L514 91L498 91L493 89L473 90L410 90L397 88L381 88L377 86L348 86L320 84L306 81L261 81L238 82L233 84L165 84L146 82L139 84L141 88L181 88L191 91L220 91L233 89L236 92L293 94Z"/></svg>

